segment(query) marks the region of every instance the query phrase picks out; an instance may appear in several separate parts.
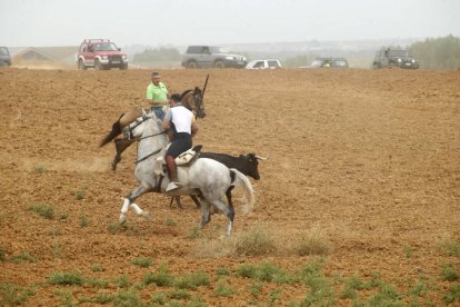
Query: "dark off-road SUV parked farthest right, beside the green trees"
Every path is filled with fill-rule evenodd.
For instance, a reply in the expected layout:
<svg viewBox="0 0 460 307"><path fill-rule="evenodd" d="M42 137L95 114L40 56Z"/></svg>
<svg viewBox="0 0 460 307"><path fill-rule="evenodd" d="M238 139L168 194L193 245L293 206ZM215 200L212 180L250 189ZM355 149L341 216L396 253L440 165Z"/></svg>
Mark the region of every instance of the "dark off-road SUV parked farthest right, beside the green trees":
<svg viewBox="0 0 460 307"><path fill-rule="evenodd" d="M376 52L372 68L419 68L419 62L406 49L382 48Z"/></svg>

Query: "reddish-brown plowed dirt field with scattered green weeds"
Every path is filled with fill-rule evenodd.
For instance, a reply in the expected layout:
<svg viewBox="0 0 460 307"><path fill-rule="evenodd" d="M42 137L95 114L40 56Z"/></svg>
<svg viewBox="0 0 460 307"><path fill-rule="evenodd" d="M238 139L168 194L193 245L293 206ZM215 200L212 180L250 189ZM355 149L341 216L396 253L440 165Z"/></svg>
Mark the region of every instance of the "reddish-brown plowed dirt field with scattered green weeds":
<svg viewBox="0 0 460 307"><path fill-rule="evenodd" d="M118 225L136 146L99 142L150 72L0 69L0 305L460 304L459 70L160 70L210 73L194 143L270 155L231 238L158 194Z"/></svg>

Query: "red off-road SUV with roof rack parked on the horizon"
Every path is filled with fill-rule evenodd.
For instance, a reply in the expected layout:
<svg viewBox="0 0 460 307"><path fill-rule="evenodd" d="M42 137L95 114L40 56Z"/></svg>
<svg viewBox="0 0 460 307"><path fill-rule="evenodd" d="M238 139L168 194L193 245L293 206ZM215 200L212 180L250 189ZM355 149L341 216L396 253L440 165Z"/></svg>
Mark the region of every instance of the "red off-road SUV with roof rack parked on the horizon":
<svg viewBox="0 0 460 307"><path fill-rule="evenodd" d="M108 39L86 39L78 51L78 69L128 69L128 56Z"/></svg>

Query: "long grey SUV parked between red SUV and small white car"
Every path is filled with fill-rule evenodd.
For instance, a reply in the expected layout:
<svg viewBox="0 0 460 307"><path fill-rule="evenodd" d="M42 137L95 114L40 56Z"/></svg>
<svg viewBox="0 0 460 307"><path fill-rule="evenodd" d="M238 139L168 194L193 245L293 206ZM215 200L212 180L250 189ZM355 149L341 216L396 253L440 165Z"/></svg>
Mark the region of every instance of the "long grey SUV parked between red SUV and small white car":
<svg viewBox="0 0 460 307"><path fill-rule="evenodd" d="M247 63L243 56L229 53L223 48L213 46L189 46L182 60L186 68L244 68Z"/></svg>

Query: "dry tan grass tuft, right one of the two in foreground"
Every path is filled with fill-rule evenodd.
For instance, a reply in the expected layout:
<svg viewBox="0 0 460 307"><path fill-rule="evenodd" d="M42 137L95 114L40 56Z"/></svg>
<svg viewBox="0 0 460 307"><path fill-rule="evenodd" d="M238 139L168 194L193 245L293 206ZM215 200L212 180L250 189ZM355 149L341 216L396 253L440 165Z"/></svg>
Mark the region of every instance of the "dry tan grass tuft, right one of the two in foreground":
<svg viewBox="0 0 460 307"><path fill-rule="evenodd" d="M299 256L326 256L331 252L332 246L319 227L312 227L300 234L292 249Z"/></svg>

